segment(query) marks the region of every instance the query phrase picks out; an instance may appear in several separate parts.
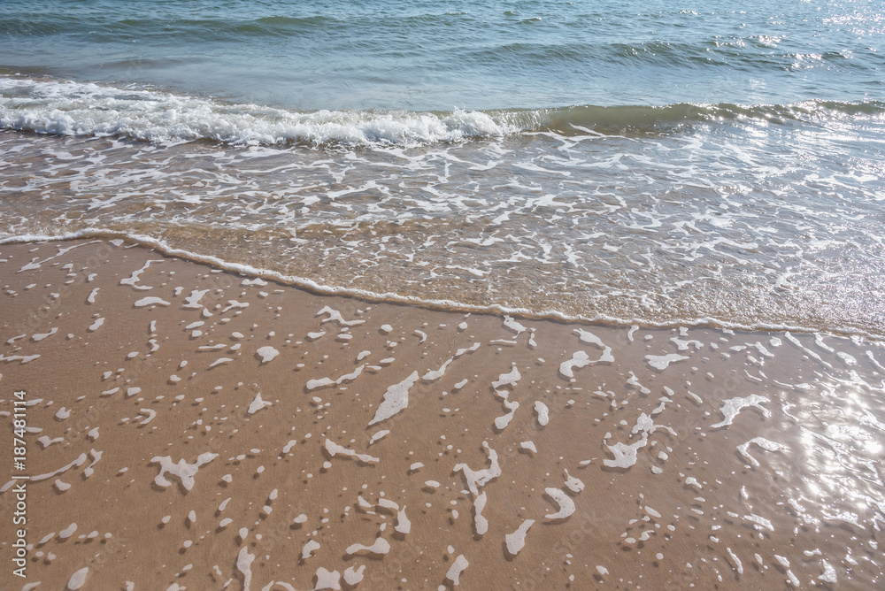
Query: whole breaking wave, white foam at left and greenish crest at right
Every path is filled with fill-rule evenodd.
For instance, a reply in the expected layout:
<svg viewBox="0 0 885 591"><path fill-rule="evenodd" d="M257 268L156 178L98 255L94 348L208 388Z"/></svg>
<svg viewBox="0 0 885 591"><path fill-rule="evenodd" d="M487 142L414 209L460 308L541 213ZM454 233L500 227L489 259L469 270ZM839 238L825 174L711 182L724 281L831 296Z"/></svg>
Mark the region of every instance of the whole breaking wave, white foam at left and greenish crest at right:
<svg viewBox="0 0 885 591"><path fill-rule="evenodd" d="M657 134L704 123L822 123L882 119L881 101L786 105L583 105L503 111L290 111L156 89L0 77L0 128L148 142L399 145L492 139L524 132Z"/></svg>

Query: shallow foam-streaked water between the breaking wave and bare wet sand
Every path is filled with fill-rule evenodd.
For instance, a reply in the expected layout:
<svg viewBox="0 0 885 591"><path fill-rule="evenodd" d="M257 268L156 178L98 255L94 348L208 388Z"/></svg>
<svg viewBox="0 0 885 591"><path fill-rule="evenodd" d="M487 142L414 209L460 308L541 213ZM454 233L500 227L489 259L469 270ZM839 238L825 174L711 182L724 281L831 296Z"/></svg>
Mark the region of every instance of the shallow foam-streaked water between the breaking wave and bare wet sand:
<svg viewBox="0 0 885 591"><path fill-rule="evenodd" d="M467 310L881 336L881 117L828 117L319 150L6 132L0 235Z"/></svg>

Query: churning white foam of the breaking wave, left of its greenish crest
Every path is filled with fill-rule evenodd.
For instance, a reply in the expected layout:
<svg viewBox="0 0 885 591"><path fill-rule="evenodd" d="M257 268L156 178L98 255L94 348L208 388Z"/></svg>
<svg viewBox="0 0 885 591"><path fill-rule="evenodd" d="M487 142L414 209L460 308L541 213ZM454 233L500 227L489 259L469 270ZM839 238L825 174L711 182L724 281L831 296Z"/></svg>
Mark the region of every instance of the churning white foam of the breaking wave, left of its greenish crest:
<svg viewBox="0 0 885 591"><path fill-rule="evenodd" d="M313 111L224 104L158 90L0 78L0 128L60 135L126 135L151 142L423 145L515 132L480 111Z"/></svg>

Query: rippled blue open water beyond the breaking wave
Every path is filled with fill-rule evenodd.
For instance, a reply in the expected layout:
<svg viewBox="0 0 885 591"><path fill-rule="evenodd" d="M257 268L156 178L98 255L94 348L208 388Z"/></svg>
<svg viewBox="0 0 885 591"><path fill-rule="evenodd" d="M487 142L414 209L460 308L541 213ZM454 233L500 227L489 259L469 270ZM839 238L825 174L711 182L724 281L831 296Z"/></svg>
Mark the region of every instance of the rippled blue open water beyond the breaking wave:
<svg viewBox="0 0 885 591"><path fill-rule="evenodd" d="M880 2L4 2L7 71L297 110L885 94Z"/></svg>

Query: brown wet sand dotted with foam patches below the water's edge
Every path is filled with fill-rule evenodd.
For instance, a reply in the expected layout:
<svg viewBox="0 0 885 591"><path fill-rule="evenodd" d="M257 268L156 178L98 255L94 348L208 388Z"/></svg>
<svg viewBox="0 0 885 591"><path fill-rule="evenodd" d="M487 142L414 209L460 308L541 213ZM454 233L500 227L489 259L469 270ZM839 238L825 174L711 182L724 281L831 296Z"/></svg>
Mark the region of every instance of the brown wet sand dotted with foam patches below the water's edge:
<svg viewBox="0 0 885 591"><path fill-rule="evenodd" d="M881 342L373 303L122 241L0 245L0 286L2 588L882 584Z"/></svg>

